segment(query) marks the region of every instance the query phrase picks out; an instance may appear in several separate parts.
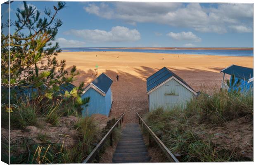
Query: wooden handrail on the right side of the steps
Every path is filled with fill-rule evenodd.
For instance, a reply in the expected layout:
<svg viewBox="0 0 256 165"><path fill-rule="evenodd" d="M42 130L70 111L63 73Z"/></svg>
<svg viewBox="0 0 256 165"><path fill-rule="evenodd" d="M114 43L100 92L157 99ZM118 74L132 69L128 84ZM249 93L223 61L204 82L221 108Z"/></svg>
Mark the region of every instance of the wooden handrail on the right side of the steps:
<svg viewBox="0 0 256 165"><path fill-rule="evenodd" d="M147 131L149 132L149 134L151 134L153 139L156 141L156 143L159 145L159 147L164 151L166 156L170 160L174 160L175 162L179 162L179 160L174 156L174 154L171 153L171 151L164 145L164 143L156 136L156 134L149 128L149 126L145 123L145 121L140 117L139 113L137 113L137 115L139 117L139 124L143 123L145 125L145 127L147 128Z"/></svg>

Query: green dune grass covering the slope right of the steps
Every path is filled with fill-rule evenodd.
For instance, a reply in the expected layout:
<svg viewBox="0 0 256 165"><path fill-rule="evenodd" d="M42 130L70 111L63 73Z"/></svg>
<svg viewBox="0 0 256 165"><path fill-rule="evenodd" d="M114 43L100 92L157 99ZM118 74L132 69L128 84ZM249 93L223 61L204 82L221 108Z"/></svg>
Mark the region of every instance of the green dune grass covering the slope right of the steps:
<svg viewBox="0 0 256 165"><path fill-rule="evenodd" d="M242 161L235 148L213 143L215 138L206 128L224 125L247 116L253 119L253 95L216 91L210 97L202 93L187 103L185 109L155 109L145 118L152 131L182 162Z"/></svg>

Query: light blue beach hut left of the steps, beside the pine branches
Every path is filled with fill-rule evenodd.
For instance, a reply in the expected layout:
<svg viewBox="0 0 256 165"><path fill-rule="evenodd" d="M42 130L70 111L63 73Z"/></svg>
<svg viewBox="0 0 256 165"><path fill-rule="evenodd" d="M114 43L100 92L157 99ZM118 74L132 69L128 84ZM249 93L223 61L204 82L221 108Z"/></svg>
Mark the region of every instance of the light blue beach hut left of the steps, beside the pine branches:
<svg viewBox="0 0 256 165"><path fill-rule="evenodd" d="M102 73L94 81L92 81L85 90L81 97L82 99L90 97L88 106L84 106L82 115L102 114L109 116L112 106L112 91L111 85L113 80L106 74Z"/></svg>

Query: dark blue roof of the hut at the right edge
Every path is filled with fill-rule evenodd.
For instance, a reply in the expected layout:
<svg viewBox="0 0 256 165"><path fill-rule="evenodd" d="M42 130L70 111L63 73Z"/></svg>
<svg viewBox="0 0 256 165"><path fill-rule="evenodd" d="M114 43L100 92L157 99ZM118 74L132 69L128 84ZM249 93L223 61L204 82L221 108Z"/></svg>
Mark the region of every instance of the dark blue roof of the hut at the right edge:
<svg viewBox="0 0 256 165"><path fill-rule="evenodd" d="M228 75L235 75L235 77L242 78L245 80L249 80L254 77L253 68L247 68L247 67L237 66L237 65L231 65L220 72L226 73Z"/></svg>

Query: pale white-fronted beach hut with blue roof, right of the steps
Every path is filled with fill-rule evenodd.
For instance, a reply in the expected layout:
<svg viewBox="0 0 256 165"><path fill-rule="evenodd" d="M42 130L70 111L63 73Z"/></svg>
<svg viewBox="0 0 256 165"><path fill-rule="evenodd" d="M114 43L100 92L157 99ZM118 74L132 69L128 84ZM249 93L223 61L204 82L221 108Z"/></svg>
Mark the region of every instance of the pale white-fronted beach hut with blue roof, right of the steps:
<svg viewBox="0 0 256 165"><path fill-rule="evenodd" d="M147 94L149 111L160 107L164 109L175 106L185 108L187 101L197 96L197 92L192 87L166 67L147 78Z"/></svg>

